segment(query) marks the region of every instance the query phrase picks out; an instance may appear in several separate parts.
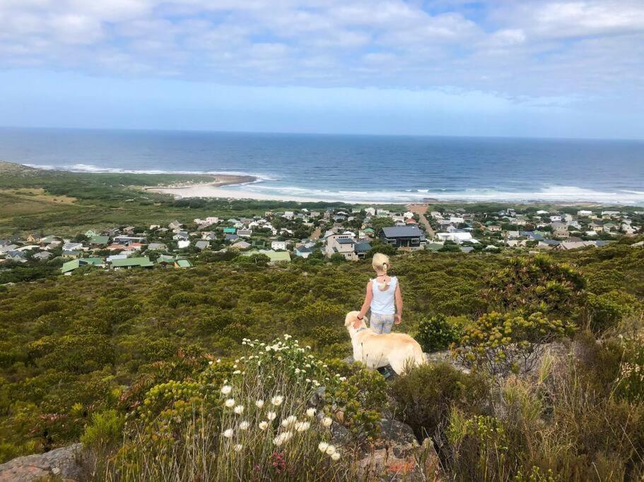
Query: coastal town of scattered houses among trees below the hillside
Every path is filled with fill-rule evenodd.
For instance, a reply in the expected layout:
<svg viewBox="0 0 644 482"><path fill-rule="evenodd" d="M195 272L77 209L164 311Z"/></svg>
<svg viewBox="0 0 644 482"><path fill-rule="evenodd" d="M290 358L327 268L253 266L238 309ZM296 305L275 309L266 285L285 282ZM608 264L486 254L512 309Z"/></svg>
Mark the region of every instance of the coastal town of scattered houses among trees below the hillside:
<svg viewBox="0 0 644 482"><path fill-rule="evenodd" d="M265 212L223 219L212 216L168 225L88 229L73 238L32 233L0 239L0 267L56 260L63 275L83 267L188 268L210 256L265 255L269 263L307 258L355 261L375 251L493 252L570 250L606 246L644 232L640 210L538 210L497 212L409 206ZM632 243L642 246L643 242Z"/></svg>

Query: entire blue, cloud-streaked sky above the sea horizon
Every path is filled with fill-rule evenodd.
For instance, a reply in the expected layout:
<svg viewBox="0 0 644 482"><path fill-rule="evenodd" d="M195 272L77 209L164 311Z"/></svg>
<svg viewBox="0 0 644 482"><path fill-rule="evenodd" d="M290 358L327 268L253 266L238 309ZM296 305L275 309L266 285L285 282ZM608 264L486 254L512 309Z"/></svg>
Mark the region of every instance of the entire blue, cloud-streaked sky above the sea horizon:
<svg viewBox="0 0 644 482"><path fill-rule="evenodd" d="M644 0L0 0L0 126L644 138Z"/></svg>

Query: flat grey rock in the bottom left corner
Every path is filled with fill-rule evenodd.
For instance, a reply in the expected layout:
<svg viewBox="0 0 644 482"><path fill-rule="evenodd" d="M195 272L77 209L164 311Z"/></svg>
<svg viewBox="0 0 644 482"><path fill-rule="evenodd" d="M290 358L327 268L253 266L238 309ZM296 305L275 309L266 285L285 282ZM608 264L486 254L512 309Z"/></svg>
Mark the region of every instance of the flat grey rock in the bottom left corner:
<svg viewBox="0 0 644 482"><path fill-rule="evenodd" d="M18 457L0 465L0 482L31 482L49 477L67 482L88 480L90 464L83 444Z"/></svg>

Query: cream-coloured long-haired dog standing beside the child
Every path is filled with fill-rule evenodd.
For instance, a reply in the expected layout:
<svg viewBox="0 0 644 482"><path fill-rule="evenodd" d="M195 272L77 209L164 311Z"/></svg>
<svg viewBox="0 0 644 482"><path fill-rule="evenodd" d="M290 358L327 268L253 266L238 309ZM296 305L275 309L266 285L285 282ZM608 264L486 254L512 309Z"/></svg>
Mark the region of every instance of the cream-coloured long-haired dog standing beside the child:
<svg viewBox="0 0 644 482"><path fill-rule="evenodd" d="M397 375L406 368L426 363L421 345L405 333L379 333L370 330L361 321L358 328L353 327L358 320L358 311L346 314L344 326L349 331L353 345L353 359L361 361L368 368L391 365Z"/></svg>

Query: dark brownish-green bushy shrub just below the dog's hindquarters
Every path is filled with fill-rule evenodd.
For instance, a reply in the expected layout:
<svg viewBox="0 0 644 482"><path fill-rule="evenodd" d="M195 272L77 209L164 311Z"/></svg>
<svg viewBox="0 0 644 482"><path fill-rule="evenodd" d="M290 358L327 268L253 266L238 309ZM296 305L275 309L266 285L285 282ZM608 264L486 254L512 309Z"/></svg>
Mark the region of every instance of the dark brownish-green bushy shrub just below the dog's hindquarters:
<svg viewBox="0 0 644 482"><path fill-rule="evenodd" d="M394 413L414 429L418 440L435 437L450 415L450 407L468 412L484 410L488 390L483 378L452 368L448 363L423 365L397 377L390 385Z"/></svg>

